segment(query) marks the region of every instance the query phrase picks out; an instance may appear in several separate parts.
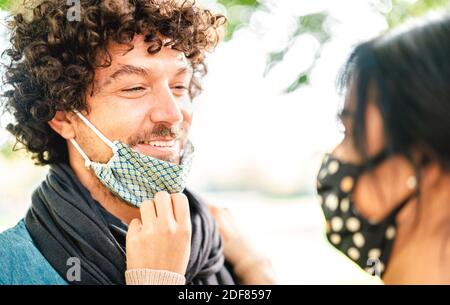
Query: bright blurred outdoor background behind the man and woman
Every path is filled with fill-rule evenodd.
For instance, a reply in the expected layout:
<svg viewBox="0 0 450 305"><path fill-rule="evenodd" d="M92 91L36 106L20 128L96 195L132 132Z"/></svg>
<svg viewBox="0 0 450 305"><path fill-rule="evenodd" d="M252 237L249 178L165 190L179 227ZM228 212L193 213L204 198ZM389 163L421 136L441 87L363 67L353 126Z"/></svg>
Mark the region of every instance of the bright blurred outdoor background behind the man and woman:
<svg viewBox="0 0 450 305"><path fill-rule="evenodd" d="M376 283L326 242L315 196L321 156L342 138L335 80L359 42L450 0L200 0L228 18L194 102L191 189L226 206L282 283ZM0 0L5 17L22 1ZM2 68L0 74L3 75ZM47 172L0 120L0 231L24 216Z"/></svg>

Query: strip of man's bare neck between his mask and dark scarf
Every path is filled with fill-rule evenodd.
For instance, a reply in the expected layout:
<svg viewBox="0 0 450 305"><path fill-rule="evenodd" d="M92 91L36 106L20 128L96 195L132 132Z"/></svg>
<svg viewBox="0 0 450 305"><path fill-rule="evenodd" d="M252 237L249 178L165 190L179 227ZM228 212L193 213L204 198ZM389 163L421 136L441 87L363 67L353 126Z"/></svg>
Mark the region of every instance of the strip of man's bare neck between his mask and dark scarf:
<svg viewBox="0 0 450 305"><path fill-rule="evenodd" d="M99 202L108 212L126 224L132 219L140 219L140 211L123 200L115 197L92 173L84 166L82 160L70 160L70 167L81 184L90 192L92 198Z"/></svg>

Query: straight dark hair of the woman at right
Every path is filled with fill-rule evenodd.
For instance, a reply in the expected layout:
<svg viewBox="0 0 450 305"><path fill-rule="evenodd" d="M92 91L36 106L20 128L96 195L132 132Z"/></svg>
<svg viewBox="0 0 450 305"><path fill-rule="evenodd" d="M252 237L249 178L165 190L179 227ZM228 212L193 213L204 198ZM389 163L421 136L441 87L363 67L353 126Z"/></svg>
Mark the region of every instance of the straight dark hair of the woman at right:
<svg viewBox="0 0 450 305"><path fill-rule="evenodd" d="M354 93L352 139L364 158L369 92L379 109L386 149L450 169L450 16L401 28L356 47L340 75Z"/></svg>

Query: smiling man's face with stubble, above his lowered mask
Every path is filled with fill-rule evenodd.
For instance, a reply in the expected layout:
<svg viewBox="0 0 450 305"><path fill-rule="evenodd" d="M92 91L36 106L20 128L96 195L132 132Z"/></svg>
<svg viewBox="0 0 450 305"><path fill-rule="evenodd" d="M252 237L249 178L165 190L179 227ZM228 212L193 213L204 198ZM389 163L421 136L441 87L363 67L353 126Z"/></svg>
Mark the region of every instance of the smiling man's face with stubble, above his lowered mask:
<svg viewBox="0 0 450 305"><path fill-rule="evenodd" d="M132 44L129 52L119 44L108 48L112 62L97 69L94 88L86 92L86 117L111 141L179 163L192 119L191 65L182 52L170 48L149 54L143 35L136 35ZM107 162L111 149L80 120L75 128L90 159Z"/></svg>

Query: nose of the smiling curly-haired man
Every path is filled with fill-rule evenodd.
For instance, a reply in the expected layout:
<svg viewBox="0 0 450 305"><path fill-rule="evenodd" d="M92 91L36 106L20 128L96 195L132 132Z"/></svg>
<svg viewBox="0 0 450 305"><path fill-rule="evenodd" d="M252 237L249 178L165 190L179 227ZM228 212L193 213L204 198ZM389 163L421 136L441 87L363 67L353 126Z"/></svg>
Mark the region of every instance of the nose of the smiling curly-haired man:
<svg viewBox="0 0 450 305"><path fill-rule="evenodd" d="M153 123L176 125L183 121L180 103L170 88L161 88L155 96L154 107L150 116Z"/></svg>

